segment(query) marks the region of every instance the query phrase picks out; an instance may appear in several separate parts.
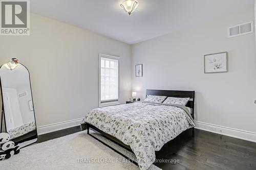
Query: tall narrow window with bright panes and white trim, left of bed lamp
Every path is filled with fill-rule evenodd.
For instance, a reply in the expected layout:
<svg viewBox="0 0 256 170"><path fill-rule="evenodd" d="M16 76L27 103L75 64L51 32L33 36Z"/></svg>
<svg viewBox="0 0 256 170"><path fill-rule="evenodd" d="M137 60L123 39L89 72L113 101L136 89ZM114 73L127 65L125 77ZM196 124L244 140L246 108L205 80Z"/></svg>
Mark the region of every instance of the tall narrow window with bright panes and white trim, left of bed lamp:
<svg viewBox="0 0 256 170"><path fill-rule="evenodd" d="M99 54L99 107L117 105L119 57Z"/></svg>

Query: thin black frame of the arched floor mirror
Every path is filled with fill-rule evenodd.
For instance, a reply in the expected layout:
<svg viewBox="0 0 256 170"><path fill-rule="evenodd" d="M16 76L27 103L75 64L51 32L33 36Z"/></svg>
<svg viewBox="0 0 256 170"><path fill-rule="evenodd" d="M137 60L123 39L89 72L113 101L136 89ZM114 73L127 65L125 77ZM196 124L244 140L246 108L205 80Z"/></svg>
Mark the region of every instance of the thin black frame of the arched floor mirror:
<svg viewBox="0 0 256 170"><path fill-rule="evenodd" d="M6 63L4 63L4 64L6 64ZM4 64L2 64L0 66L0 69L4 66ZM19 64L23 65L22 63L19 63ZM27 147L28 145L36 143L37 140L38 140L37 126L36 126L36 117L35 117L35 108L34 108L34 100L33 100L33 93L32 93L31 80L30 80L30 72L29 72L29 69L25 65L23 65L23 66L27 69L28 74L29 74L29 84L30 84L31 98L32 98L32 104L33 104L33 109L34 109L33 112L34 112L34 118L35 118L35 130L31 131L31 132L33 132L32 135L31 134L28 135L29 133L31 133L31 132L29 132L27 134L24 134L22 136L19 136L19 137L10 139L10 140L14 141L14 142L17 142L17 143L26 142L26 141L33 140L33 139L36 139L36 141L34 141L32 143L25 144L25 145L21 146L20 148ZM1 75L0 75L0 91L1 91L1 100L2 100L2 108L1 108L1 110L2 110L1 117L2 118L0 117L0 119L1 119L1 122L0 122L1 131L0 131L0 133L7 132L6 119L5 119L5 107L4 107L4 99L3 99L3 90L2 89L3 88L2 88L2 81L1 81ZM5 129L4 130L3 130L3 123L5 124L5 126L4 126Z"/></svg>

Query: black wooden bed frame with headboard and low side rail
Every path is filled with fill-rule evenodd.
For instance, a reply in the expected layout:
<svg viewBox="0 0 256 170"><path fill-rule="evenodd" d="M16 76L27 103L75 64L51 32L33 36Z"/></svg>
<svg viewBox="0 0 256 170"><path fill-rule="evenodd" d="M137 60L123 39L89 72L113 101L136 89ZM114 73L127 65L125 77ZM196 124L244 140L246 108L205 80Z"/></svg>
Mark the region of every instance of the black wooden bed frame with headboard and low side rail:
<svg viewBox="0 0 256 170"><path fill-rule="evenodd" d="M162 96L167 96L167 97L174 97L174 98L190 98L190 100L188 101L186 107L191 108L191 116L194 119L194 108L195 108L195 91L178 91L178 90L150 90L147 89L146 90L146 96L147 95L162 95ZM101 133L105 138L111 140L112 142L118 144L120 147L130 151L133 153L133 150L131 149L131 147L129 145L124 144L122 141L120 141L119 139L115 138L112 135L109 135L103 131L101 131L100 129L96 128L95 126L91 125L91 124L86 124L87 126L87 134L89 134L90 136L92 136L93 138L95 138L96 140L100 141L101 143L103 143L104 145L106 145L107 147L109 147L110 149L114 150L115 152L117 152L118 154L120 154L121 156L123 156L124 158L128 159L129 161L133 162L134 164L138 165L137 162L133 161L132 159L130 159L129 157L123 155L122 153L120 153L119 151L117 151L116 149L112 148L110 145L104 143L103 141L101 141L100 139L98 139L97 137L91 135L89 133L90 128L96 132ZM194 128L193 128L193 135L194 135Z"/></svg>

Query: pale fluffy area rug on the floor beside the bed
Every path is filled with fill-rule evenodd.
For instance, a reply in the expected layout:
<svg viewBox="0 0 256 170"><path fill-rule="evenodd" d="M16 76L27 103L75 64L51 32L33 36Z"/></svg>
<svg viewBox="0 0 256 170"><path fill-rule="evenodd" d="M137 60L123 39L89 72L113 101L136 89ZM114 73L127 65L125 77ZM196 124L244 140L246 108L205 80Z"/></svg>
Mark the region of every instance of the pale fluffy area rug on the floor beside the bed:
<svg viewBox="0 0 256 170"><path fill-rule="evenodd" d="M133 153L105 139L95 137L111 145L127 157L135 160ZM37 143L20 150L18 155L0 161L1 169L131 169L139 167L86 134L86 131ZM149 170L158 170L151 165Z"/></svg>

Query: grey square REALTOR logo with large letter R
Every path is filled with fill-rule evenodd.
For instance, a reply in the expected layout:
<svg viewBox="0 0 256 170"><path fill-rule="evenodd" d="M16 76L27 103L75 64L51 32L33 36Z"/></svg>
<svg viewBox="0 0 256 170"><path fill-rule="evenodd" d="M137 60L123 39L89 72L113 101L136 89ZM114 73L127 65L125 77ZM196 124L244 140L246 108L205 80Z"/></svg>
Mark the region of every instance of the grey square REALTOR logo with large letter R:
<svg viewBox="0 0 256 170"><path fill-rule="evenodd" d="M30 17L29 1L1 2L1 30L0 35L29 35Z"/></svg>

